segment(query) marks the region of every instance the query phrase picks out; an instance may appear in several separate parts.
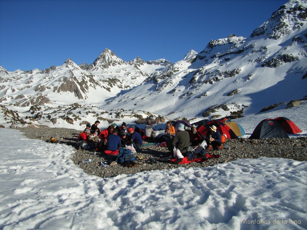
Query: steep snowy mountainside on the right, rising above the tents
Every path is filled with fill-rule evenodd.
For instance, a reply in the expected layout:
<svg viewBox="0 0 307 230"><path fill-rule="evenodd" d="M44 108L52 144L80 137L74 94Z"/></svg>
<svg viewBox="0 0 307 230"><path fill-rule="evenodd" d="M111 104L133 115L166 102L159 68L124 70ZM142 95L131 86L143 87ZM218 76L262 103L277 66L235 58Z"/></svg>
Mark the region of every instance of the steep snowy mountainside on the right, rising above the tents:
<svg viewBox="0 0 307 230"><path fill-rule="evenodd" d="M176 111L171 118L191 118L227 105L226 111L218 108L210 114L223 117L243 105L249 106L244 115L250 115L268 105L303 98L307 95L306 5L306 1L288 2L248 38L231 35L212 40L194 59L157 71L120 95L117 106L135 109L137 104L164 116ZM144 100L135 103L128 96Z"/></svg>

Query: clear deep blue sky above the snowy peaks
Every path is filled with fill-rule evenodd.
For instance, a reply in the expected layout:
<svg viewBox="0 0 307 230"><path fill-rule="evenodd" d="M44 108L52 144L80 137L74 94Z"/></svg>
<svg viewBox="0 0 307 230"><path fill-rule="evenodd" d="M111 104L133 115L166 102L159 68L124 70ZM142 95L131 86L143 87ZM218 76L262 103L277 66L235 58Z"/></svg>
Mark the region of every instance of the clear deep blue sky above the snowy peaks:
<svg viewBox="0 0 307 230"><path fill-rule="evenodd" d="M210 40L248 37L286 0L0 0L0 65L8 71L124 61L174 63Z"/></svg>

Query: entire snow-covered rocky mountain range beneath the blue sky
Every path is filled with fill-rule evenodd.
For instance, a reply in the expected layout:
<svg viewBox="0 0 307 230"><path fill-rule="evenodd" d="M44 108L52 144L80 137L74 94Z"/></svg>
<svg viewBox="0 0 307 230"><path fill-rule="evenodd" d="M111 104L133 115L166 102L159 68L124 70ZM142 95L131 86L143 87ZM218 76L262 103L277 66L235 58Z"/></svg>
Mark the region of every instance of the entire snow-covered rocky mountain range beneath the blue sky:
<svg viewBox="0 0 307 230"><path fill-rule="evenodd" d="M46 117L55 114L50 111L57 107L70 108L68 115L60 115L68 117L64 122L83 120L89 113L94 117L112 113L104 119L115 119L123 111L169 119L216 118L241 109L244 115L255 114L307 95L306 12L306 0L290 0L250 37L232 34L211 40L200 53L190 50L173 64L139 57L124 62L105 49L90 65L78 66L67 59L43 71L9 72L0 67L0 103L3 111L18 110L23 121L45 125L50 125ZM96 111L87 111L88 105ZM38 107L40 113L33 116L33 108ZM57 117L51 123L63 125L59 121Z"/></svg>

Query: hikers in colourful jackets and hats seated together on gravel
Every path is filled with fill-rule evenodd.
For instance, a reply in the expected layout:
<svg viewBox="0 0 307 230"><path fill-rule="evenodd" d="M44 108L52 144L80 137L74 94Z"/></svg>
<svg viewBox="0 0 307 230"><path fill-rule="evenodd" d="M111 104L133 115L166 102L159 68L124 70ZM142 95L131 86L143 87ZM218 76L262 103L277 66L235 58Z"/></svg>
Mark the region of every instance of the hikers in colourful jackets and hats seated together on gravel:
<svg viewBox="0 0 307 230"><path fill-rule="evenodd" d="M96 148L97 151L102 152L116 152L126 145L131 145L138 149L142 145L142 141L146 139L153 140L153 134L155 130L153 127L160 123L152 124L151 120L147 120L144 134L141 135L140 129L127 128L126 123L123 122L121 127L113 123L105 128L103 131L98 128L100 124L99 121L95 121L93 125L87 124L86 128L77 138L77 146L79 149L93 149ZM204 140L207 143L206 151L211 151L213 149L222 149L223 145L221 143L221 134L216 130L216 126L212 125L210 127L210 132L207 132L206 137L202 136L196 129L196 125L192 125L191 131L186 131L184 124L179 124L177 133L172 125L171 121L166 123L164 135L165 142L170 151L176 147L180 151L187 151L189 146L199 145Z"/></svg>

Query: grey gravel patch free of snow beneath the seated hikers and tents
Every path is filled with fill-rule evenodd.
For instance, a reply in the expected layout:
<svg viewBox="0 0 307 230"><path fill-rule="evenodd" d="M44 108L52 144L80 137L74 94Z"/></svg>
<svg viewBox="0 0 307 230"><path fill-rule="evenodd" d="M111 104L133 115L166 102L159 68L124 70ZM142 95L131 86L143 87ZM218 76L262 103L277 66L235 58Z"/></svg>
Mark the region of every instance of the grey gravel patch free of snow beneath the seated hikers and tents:
<svg viewBox="0 0 307 230"><path fill-rule="evenodd" d="M136 155L151 158L153 160L136 160L133 168L124 167L115 164L109 167L100 166L100 162L111 162L116 158L95 151L78 150L76 146L76 138L83 130L68 128L16 128L24 133L30 139L40 139L44 141L50 140L51 137L56 138L58 144L71 145L76 148L76 152L72 155L72 161L84 170L87 174L99 177L114 177L119 174L133 174L136 172L150 170L173 169L177 167L207 167L218 163L230 162L238 158L257 158L276 157L287 158L297 161L307 160L307 138L298 137L293 139L269 138L265 140L249 140L245 138L227 140L225 144L230 147L218 151L211 151L210 154L219 154L219 158L211 158L202 163L189 164L171 164L164 162L156 162L156 159L166 157L170 154L166 147L156 145L144 146L141 152ZM148 144L143 141L143 144ZM91 163L82 163L86 159L92 159Z"/></svg>

